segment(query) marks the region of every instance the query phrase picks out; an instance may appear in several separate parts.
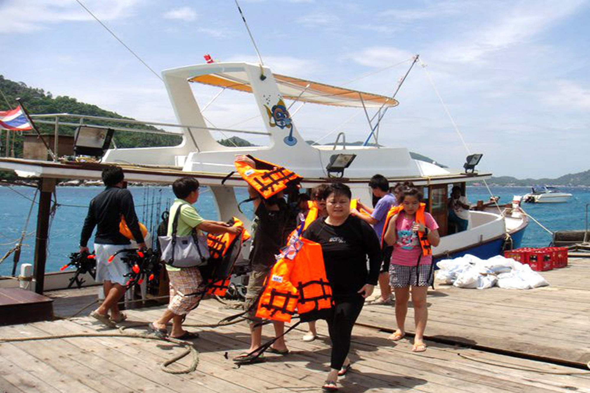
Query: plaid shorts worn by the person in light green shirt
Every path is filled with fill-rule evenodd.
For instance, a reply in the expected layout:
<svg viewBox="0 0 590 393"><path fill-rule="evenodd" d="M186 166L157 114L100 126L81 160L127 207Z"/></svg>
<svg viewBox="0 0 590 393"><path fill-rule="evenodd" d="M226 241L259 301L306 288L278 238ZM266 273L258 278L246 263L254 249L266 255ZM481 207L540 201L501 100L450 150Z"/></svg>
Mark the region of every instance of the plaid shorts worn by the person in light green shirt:
<svg viewBox="0 0 590 393"><path fill-rule="evenodd" d="M168 271L168 278L170 279L169 310L176 315L185 315L199 305L205 283L198 267Z"/></svg>

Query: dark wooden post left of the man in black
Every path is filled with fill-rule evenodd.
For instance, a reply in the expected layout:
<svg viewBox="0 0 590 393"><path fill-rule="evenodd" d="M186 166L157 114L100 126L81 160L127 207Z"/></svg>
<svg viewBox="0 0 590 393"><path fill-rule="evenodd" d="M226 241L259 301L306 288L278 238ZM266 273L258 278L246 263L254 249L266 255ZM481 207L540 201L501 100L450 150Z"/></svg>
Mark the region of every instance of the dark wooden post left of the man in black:
<svg viewBox="0 0 590 393"><path fill-rule="evenodd" d="M39 210L37 213L37 240L35 241L35 292L43 293L45 283L45 262L47 261L47 237L51 212L51 194L55 191L55 179L41 178L39 181Z"/></svg>

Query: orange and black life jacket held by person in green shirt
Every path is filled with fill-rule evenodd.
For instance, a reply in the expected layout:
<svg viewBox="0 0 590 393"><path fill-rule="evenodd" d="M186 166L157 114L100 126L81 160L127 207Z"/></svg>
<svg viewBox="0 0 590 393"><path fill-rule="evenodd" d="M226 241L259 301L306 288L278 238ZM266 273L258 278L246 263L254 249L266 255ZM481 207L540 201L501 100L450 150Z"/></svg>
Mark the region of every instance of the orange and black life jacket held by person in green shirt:
<svg viewBox="0 0 590 393"><path fill-rule="evenodd" d="M233 217L228 224L232 227L242 228L239 235L228 232L207 235L210 262L214 264L212 278L208 279L207 294L225 296L230 286L231 270L234 267L237 253L240 252L242 243L250 238L250 233L244 229L244 224L238 218Z"/></svg>

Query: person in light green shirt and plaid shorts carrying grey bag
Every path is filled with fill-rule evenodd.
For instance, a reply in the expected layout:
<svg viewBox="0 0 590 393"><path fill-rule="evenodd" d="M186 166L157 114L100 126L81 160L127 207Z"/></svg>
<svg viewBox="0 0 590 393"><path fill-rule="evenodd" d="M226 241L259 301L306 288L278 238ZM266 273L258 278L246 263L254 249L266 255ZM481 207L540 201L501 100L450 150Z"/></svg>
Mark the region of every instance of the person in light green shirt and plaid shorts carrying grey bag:
<svg viewBox="0 0 590 393"><path fill-rule="evenodd" d="M231 226L227 222L204 220L192 206L199 199L199 181L189 176L176 179L172 184L172 191L176 199L170 208L167 235L172 235L173 217L179 214L178 236L190 235L194 230L209 234L238 235L239 227ZM172 320L171 338L190 340L198 338L197 333L188 332L182 328L185 315L195 309L205 294L207 283L203 280L199 267L172 267L166 264L166 271L170 279L170 301L168 308L148 325L149 332L164 338L168 336L166 324Z"/></svg>

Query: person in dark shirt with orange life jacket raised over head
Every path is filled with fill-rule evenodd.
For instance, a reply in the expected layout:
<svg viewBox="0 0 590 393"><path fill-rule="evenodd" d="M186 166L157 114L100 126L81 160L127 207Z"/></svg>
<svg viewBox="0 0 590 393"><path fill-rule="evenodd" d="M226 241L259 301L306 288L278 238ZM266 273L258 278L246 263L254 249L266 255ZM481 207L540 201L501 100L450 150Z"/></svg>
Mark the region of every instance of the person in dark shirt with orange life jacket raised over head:
<svg viewBox="0 0 590 393"><path fill-rule="evenodd" d="M245 310L250 322L250 349L233 360L249 362L253 355L249 353L260 348L262 343L262 319L256 316L257 303L264 289L264 280L276 262L275 256L287 243L287 227L290 215L283 191L289 186L286 179L301 179L299 175L280 166L254 159L251 156L237 155L234 162L238 172L248 183L248 194L254 204L254 215L258 225L254 232L253 248L250 252L252 271L246 291ZM284 322L273 322L276 337L279 337L270 352L287 354L289 349L284 341Z"/></svg>

